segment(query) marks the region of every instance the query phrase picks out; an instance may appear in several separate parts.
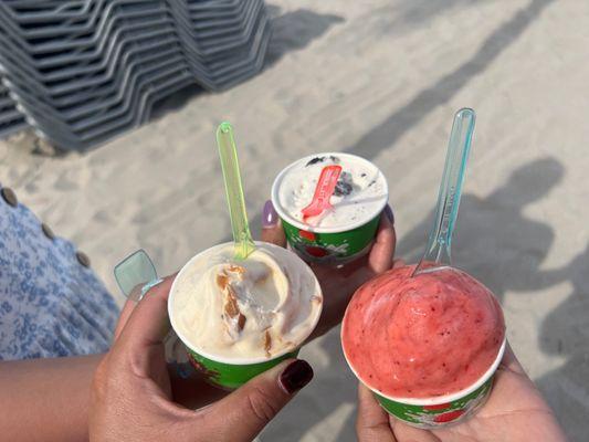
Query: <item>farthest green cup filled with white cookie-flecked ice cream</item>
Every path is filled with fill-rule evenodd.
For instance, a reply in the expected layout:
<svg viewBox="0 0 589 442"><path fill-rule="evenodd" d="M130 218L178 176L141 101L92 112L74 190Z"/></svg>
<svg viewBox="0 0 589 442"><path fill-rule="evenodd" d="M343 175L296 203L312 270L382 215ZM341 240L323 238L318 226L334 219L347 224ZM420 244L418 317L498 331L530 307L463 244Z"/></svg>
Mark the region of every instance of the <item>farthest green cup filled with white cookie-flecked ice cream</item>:
<svg viewBox="0 0 589 442"><path fill-rule="evenodd" d="M304 219L324 167L339 165L341 175L332 209ZM302 158L282 170L272 186L272 202L288 245L307 262L343 264L366 254L388 201L382 172L356 155L325 152Z"/></svg>

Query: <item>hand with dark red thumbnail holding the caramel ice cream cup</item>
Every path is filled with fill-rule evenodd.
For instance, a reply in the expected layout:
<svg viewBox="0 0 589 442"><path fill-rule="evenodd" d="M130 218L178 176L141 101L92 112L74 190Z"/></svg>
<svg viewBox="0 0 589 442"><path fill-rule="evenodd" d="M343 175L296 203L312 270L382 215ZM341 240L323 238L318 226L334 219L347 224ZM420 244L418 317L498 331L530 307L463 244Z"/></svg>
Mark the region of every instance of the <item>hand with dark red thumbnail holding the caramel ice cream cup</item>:
<svg viewBox="0 0 589 442"><path fill-rule="evenodd" d="M291 359L198 411L172 402L164 352L172 281L152 287L122 317L94 376L91 441L251 441L311 381L311 366Z"/></svg>

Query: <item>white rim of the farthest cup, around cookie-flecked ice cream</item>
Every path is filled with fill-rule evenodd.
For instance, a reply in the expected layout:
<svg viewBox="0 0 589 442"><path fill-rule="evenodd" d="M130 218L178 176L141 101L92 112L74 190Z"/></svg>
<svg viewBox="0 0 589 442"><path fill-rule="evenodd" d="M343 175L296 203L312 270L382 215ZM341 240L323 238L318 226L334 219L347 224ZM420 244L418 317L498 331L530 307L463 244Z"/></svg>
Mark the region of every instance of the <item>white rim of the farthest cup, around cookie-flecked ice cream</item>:
<svg viewBox="0 0 589 442"><path fill-rule="evenodd" d="M375 212L370 212L370 217L367 215L367 217L362 218L361 220L356 221L355 223L346 225L345 228L322 228L322 227L313 227L313 225L305 224L305 223L294 219L293 217L291 217L281 207L280 199L278 199L280 185L281 185L282 180L284 179L285 175L293 167L295 167L299 162L303 162L305 160L308 161L309 159L313 159L315 157L330 156L330 155L339 156L339 157L354 158L354 160L371 165L372 167L375 167L378 170L379 177L382 178L382 182L385 185L385 196L382 198L382 204L379 207L379 209L375 210ZM294 225L297 229L305 230L307 232L314 232L314 233L341 233L341 232L348 232L350 230L354 230L354 229L357 229L359 227L362 227L362 225L367 224L368 222L374 220L375 217L378 217L380 214L380 212L382 212L382 210L385 209L385 207L387 206L387 203L389 201L389 185L388 185L388 181L387 181L387 177L385 177L385 175L382 173L382 170L380 170L379 167L377 167L372 161L369 161L366 158L362 158L362 157L360 157L358 155L354 155L354 154L347 154L347 152L337 152L337 151L317 152L317 154L312 154L312 155L307 155L307 156L305 156L303 158L299 158L296 161L291 162L284 169L282 169L281 172L274 179L274 182L272 183L271 199L272 199L272 204L274 206L274 209L276 210L278 215L284 221L286 221L288 224Z"/></svg>

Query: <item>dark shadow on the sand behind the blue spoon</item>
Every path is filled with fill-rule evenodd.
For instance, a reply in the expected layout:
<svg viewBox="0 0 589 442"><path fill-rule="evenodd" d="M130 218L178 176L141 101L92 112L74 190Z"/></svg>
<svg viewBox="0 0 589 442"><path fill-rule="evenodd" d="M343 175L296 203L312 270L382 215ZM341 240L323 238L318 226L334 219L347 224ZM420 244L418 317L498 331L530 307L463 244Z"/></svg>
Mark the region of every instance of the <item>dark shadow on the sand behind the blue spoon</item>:
<svg viewBox="0 0 589 442"><path fill-rule="evenodd" d="M533 161L515 170L507 182L486 198L462 197L452 261L476 276L503 298L506 291L541 290L550 285L539 270L555 234L545 222L525 215L562 179L554 158ZM432 207L435 203L432 196ZM433 222L433 210L397 244L399 257L421 257Z"/></svg>

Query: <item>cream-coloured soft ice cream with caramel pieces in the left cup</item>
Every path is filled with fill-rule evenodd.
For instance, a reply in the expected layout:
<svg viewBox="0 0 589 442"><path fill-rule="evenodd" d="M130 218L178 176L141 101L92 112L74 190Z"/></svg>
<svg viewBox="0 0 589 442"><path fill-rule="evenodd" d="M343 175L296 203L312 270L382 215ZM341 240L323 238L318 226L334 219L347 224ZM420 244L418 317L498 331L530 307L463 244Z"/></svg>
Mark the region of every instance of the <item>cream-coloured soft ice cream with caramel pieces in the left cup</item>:
<svg viewBox="0 0 589 442"><path fill-rule="evenodd" d="M211 358L272 358L299 347L322 312L317 278L294 253L257 242L235 261L233 243L194 256L172 286L171 322Z"/></svg>

